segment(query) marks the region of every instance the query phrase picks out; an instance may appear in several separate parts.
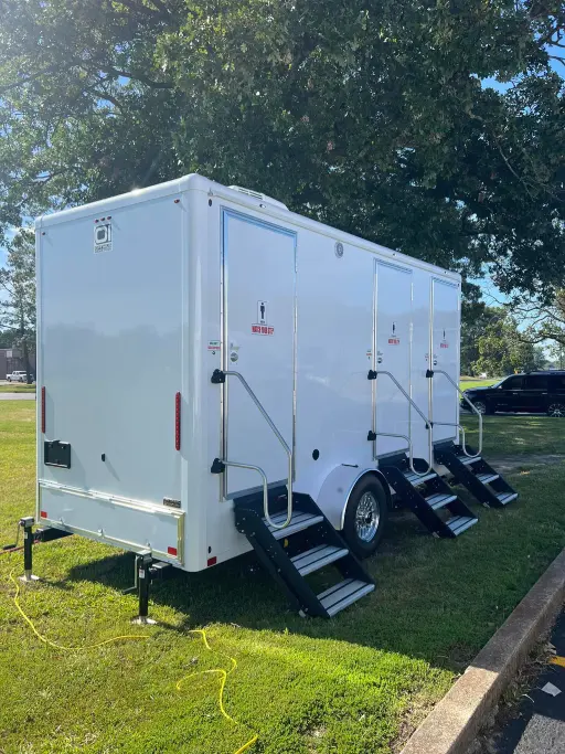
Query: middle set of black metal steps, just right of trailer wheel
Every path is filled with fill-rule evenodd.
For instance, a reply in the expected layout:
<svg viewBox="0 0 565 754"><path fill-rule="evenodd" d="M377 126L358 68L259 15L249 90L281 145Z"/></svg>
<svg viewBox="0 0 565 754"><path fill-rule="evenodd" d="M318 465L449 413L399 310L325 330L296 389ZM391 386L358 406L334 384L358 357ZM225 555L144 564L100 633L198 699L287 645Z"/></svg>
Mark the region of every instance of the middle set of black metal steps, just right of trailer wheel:
<svg viewBox="0 0 565 754"><path fill-rule="evenodd" d="M434 470L424 474L427 466L422 458L415 458L414 468L418 474L414 474L405 454L379 463L379 469L399 500L414 511L428 531L435 537L459 537L478 519L440 476ZM440 516L439 511L444 510L449 516Z"/></svg>

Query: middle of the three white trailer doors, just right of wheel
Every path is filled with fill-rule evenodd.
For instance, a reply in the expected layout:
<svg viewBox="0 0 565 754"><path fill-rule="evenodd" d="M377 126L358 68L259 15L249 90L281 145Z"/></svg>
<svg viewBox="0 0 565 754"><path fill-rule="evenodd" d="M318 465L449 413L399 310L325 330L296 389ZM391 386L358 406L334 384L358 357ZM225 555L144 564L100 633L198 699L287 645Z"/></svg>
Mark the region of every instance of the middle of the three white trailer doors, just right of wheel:
<svg viewBox="0 0 565 754"><path fill-rule="evenodd" d="M412 272L399 265L376 263L375 369L390 372L411 393ZM407 449L402 437L409 435L409 402L387 374L375 382L376 457ZM417 417L413 417L413 421Z"/></svg>

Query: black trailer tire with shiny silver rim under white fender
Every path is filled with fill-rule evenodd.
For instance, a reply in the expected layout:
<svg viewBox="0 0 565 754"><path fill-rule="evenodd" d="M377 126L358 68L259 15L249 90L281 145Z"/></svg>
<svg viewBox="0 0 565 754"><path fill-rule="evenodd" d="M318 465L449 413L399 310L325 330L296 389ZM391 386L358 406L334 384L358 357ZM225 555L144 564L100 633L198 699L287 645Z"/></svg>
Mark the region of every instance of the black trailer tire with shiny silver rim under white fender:
<svg viewBox="0 0 565 754"><path fill-rule="evenodd" d="M372 496L372 501L365 497L367 495ZM362 527L362 524L359 521L358 512L362 514L367 506L373 505L373 501L376 505L377 520L374 522L374 512L366 511L366 516L372 516L373 521L366 521L367 531L365 537L363 537L362 529L360 531L360 525ZM361 511L359 510L360 507L362 507ZM370 557L376 551L379 543L383 539L387 520L388 503L384 488L376 477L366 475L353 488L343 520L343 537L351 551L358 557ZM371 532L372 523L375 523L374 532Z"/></svg>

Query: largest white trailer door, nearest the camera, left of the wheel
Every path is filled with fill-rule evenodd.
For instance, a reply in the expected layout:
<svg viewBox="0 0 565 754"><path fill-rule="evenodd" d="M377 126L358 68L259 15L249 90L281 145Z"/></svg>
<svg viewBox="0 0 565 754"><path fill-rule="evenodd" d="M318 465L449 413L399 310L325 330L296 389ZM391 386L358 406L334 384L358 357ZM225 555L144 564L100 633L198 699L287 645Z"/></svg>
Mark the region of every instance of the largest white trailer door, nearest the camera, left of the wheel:
<svg viewBox="0 0 565 754"><path fill-rule="evenodd" d="M246 380L287 445L294 445L296 234L223 212L224 369ZM224 389L225 458L259 466L269 484L288 480L288 456L235 376ZM256 471L227 468L226 495L262 485Z"/></svg>

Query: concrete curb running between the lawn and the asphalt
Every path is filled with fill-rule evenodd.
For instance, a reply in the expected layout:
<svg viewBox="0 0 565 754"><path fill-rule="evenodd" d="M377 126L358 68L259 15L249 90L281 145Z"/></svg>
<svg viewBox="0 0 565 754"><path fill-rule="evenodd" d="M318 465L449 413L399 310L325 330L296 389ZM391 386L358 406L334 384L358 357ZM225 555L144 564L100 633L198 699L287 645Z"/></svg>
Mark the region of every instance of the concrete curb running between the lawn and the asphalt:
<svg viewBox="0 0 565 754"><path fill-rule="evenodd" d="M401 754L465 754L565 598L565 550L416 729Z"/></svg>

